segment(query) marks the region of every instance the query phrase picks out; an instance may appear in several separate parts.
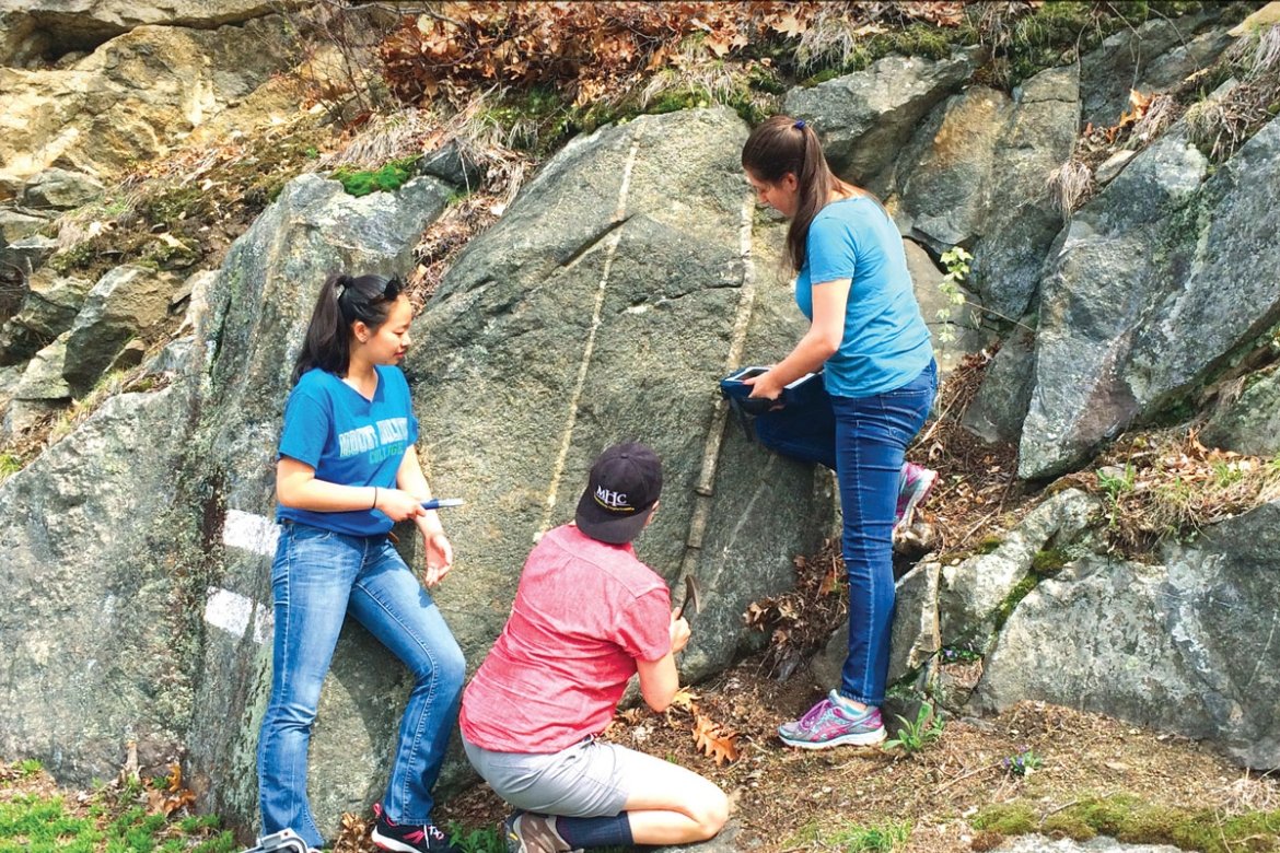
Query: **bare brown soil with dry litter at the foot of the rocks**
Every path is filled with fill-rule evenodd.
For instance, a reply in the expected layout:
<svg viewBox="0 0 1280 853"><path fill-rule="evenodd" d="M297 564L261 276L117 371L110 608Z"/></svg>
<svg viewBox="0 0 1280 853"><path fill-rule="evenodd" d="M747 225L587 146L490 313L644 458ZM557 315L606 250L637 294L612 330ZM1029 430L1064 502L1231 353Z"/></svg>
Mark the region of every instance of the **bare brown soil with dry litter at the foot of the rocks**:
<svg viewBox="0 0 1280 853"><path fill-rule="evenodd" d="M716 780L733 801L742 849L846 849L840 839L852 830L890 825L910 827L906 845L893 848L900 853L986 849L991 834L974 830L970 820L1000 803L1028 804L1041 818L1089 798L1124 795L1172 810L1212 810L1222 820L1280 808L1275 775L1243 770L1187 738L1044 702L988 719L948 719L936 743L908 756L879 747L809 752L782 746L777 725L803 714L823 691L806 674L768 678L759 657L691 692L699 714L737 734L737 761L718 765L699 751L686 708L622 711L604 737ZM1019 756L1033 756L1041 766L1019 775L1006 765ZM506 811L477 785L445 803L442 818L493 826Z"/></svg>

